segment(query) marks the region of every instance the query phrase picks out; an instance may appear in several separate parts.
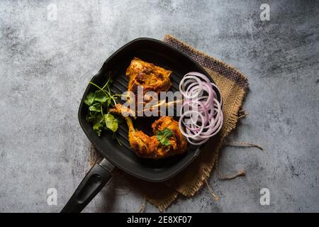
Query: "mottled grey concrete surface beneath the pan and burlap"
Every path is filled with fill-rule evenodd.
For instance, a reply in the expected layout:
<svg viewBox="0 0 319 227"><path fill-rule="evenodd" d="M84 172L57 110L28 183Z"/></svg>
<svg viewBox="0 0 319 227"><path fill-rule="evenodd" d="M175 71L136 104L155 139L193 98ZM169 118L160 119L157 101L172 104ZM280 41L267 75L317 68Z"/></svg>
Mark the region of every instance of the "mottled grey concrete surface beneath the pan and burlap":
<svg viewBox="0 0 319 227"><path fill-rule="evenodd" d="M259 18L262 3L270 21ZM213 175L219 201L203 187L167 211L319 211L318 21L318 1L0 1L0 211L62 209L88 168L77 121L86 84L128 41L166 33L247 75L250 115L229 139L264 148L225 148L220 171L247 176ZM262 188L269 206L259 204ZM84 211L135 212L142 201L117 175Z"/></svg>

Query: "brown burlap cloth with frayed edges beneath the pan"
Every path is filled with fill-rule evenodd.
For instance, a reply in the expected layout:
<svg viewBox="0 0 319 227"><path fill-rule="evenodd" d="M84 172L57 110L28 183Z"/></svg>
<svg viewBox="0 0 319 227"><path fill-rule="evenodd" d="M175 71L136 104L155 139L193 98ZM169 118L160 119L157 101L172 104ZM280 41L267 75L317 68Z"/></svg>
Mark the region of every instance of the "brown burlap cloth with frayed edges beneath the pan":
<svg viewBox="0 0 319 227"><path fill-rule="evenodd" d="M167 182L145 182L135 177L130 177L125 173L121 174L135 188L138 188L147 201L157 206L159 211L167 209L177 199L179 194L194 196L210 177L212 170L216 167L223 140L236 127L238 111L240 111L248 89L247 77L234 67L196 50L190 45L181 42L181 40L172 37L172 35L165 35L164 42L191 56L213 77L223 97L224 122L220 133L208 141L196 160ZM100 159L99 153L96 153L94 148L91 149L90 164L92 165Z"/></svg>

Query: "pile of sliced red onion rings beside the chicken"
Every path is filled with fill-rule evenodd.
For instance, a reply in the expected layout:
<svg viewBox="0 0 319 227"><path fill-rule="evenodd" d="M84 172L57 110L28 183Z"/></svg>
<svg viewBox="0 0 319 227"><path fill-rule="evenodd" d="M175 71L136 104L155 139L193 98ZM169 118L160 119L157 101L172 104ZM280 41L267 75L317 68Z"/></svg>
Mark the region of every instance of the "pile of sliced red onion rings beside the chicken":
<svg viewBox="0 0 319 227"><path fill-rule="evenodd" d="M220 97L218 101L214 88L218 90L208 77L199 72L185 74L179 84L179 91L184 97L179 129L193 145L206 143L223 126L222 100ZM185 107L189 109L185 110Z"/></svg>

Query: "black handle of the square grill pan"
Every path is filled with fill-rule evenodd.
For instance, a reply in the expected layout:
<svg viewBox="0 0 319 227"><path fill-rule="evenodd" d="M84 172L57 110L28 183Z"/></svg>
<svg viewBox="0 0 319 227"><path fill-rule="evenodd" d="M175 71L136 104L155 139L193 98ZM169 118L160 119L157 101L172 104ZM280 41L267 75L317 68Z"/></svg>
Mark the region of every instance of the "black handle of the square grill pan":
<svg viewBox="0 0 319 227"><path fill-rule="evenodd" d="M91 167L61 213L79 213L111 179L113 165L106 159Z"/></svg>

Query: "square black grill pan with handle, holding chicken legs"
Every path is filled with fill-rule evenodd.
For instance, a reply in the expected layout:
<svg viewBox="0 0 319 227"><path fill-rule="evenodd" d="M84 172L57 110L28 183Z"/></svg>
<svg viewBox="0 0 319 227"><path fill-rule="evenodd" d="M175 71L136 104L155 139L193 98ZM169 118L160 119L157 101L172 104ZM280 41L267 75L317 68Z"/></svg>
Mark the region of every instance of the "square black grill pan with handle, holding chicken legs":
<svg viewBox="0 0 319 227"><path fill-rule="evenodd" d="M113 84L111 92L122 94L127 90L128 86L128 78L125 75L125 71L133 57L139 57L141 60L152 62L159 67L171 70L172 87L170 90L172 92L178 91L179 82L187 72L201 72L211 79L201 65L184 52L181 52L181 50L152 38L138 38L127 43L114 52L111 57L108 57L106 62L103 63L101 70L99 70L91 81L102 86L106 81L108 72L112 72ZM213 79L211 79L211 82L213 82ZM86 87L79 106L78 117L87 138L89 138L96 150L103 155L104 159L101 163L94 165L87 173L62 212L82 211L86 204L111 179L113 167L118 167L124 172L140 179L150 182L163 182L177 175L181 170L184 170L201 151L202 146L189 145L186 153L183 155L175 155L162 160L140 158L130 150L128 126L125 121L121 123L118 129L118 138L123 143L123 146L119 145L116 140L113 140L108 133L103 132L99 137L93 131L91 123L86 121L88 106L84 104L86 95L95 90L96 88L91 84ZM217 90L216 94L218 94L218 99L220 100L220 94ZM155 119L154 117L138 117L133 123L135 128L151 134L150 125Z"/></svg>

